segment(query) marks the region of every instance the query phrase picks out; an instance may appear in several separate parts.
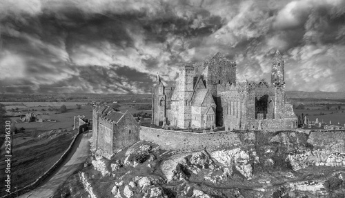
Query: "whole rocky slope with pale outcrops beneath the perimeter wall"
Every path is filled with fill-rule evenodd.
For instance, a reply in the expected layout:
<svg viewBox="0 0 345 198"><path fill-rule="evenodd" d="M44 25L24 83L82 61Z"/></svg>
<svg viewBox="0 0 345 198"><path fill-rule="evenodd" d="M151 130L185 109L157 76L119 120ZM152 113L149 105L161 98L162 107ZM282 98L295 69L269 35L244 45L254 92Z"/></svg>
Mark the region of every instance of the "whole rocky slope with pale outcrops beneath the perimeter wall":
<svg viewBox="0 0 345 198"><path fill-rule="evenodd" d="M101 174L86 168L83 190L90 197L115 198L344 197L345 153L338 151L342 140L341 145L316 146L308 141L311 132L258 131L255 145L212 152L164 151L148 142L136 143L110 161L90 159ZM313 141L324 141L321 136ZM145 160L137 163L138 155ZM331 174L336 171L341 173ZM101 177L109 173L114 179ZM96 179L113 183L106 192L94 193L103 184Z"/></svg>

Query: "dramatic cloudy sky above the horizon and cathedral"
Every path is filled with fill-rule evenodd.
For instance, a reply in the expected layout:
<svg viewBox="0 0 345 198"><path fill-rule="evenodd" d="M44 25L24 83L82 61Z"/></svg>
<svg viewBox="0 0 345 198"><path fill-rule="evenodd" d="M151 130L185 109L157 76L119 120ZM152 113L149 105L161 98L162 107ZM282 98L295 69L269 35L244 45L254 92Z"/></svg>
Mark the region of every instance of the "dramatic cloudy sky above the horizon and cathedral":
<svg viewBox="0 0 345 198"><path fill-rule="evenodd" d="M345 0L1 0L0 92L144 94L216 52L241 81L345 92Z"/></svg>

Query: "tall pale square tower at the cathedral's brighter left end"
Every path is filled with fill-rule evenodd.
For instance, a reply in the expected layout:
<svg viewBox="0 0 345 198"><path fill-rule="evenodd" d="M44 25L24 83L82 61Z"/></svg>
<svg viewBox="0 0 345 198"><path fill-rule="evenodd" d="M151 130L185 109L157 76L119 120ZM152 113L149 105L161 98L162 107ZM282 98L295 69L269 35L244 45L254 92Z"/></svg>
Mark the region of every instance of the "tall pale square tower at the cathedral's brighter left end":
<svg viewBox="0 0 345 198"><path fill-rule="evenodd" d="M179 115L177 117L178 128L188 128L192 120L192 107L190 99L193 96L194 68L193 66L181 66L179 69ZM176 125L176 123L174 123Z"/></svg>

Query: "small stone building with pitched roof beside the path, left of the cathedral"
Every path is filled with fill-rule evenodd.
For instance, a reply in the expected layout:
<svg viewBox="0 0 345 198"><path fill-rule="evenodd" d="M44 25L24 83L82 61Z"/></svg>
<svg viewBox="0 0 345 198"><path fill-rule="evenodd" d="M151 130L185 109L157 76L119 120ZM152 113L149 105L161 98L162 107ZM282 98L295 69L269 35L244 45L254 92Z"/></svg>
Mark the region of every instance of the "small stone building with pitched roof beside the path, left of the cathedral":
<svg viewBox="0 0 345 198"><path fill-rule="evenodd" d="M97 152L110 157L139 141L139 123L126 111L115 111L106 105L96 105L92 110L92 140Z"/></svg>

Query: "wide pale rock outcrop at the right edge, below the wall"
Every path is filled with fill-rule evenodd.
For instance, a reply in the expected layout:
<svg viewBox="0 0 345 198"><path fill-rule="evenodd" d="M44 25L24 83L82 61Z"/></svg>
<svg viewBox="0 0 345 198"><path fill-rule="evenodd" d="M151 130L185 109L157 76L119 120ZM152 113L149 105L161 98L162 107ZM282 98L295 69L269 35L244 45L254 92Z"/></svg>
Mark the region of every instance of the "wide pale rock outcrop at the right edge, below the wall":
<svg viewBox="0 0 345 198"><path fill-rule="evenodd" d="M331 150L297 150L288 155L293 170L308 166L345 166L345 155Z"/></svg>

